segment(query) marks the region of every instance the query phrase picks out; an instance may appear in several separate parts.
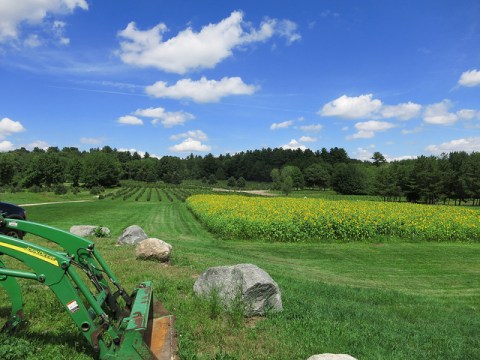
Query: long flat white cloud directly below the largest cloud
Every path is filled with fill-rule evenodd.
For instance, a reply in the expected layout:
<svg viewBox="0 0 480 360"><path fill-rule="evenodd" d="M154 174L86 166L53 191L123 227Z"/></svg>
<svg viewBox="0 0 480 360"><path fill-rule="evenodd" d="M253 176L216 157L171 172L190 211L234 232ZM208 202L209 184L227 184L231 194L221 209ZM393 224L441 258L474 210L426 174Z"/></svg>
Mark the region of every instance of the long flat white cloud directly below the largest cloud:
<svg viewBox="0 0 480 360"><path fill-rule="evenodd" d="M145 88L147 94L157 98L191 99L198 103L218 102L230 95L252 95L257 90L257 86L247 85L239 77L224 77L220 81L205 77L198 81L181 79L172 86L157 81Z"/></svg>

